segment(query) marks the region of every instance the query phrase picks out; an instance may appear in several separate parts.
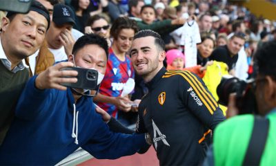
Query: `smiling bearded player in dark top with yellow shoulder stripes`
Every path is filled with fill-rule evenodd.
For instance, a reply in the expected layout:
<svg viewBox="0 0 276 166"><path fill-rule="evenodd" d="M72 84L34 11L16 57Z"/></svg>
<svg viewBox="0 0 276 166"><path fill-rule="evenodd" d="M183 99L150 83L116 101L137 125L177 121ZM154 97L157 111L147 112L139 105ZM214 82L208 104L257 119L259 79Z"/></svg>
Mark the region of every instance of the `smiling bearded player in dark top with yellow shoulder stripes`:
<svg viewBox="0 0 276 166"><path fill-rule="evenodd" d="M130 56L148 86L139 104L137 133L149 133L160 165L200 165L210 130L225 119L204 82L189 71L166 71L164 41L139 31Z"/></svg>

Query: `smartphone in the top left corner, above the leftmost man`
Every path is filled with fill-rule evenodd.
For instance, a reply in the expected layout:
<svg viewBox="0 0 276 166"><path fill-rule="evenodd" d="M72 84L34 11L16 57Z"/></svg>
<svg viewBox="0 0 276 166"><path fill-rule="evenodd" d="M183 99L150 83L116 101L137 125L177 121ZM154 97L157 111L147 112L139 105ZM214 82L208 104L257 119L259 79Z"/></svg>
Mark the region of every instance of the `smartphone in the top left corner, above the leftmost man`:
<svg viewBox="0 0 276 166"><path fill-rule="evenodd" d="M27 13L33 0L0 0L0 10Z"/></svg>

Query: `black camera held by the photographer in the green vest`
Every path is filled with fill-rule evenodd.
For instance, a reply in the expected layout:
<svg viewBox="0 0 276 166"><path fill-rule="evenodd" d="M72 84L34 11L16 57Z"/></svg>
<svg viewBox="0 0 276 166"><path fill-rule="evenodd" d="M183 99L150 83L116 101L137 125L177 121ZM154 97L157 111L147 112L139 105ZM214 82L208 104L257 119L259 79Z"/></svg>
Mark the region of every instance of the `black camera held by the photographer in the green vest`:
<svg viewBox="0 0 276 166"><path fill-rule="evenodd" d="M255 80L239 80L237 77L222 77L217 86L219 104L228 105L230 93L236 93L236 107L239 114L257 114L257 102L255 97Z"/></svg>

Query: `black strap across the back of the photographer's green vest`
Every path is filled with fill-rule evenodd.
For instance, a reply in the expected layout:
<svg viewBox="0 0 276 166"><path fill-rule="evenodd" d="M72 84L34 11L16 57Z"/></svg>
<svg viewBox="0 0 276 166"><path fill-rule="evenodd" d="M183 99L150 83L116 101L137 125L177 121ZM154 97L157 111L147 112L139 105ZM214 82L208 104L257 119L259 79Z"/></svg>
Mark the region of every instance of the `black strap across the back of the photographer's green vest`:
<svg viewBox="0 0 276 166"><path fill-rule="evenodd" d="M259 165L266 146L268 128L269 120L267 118L255 116L253 131L243 165Z"/></svg>

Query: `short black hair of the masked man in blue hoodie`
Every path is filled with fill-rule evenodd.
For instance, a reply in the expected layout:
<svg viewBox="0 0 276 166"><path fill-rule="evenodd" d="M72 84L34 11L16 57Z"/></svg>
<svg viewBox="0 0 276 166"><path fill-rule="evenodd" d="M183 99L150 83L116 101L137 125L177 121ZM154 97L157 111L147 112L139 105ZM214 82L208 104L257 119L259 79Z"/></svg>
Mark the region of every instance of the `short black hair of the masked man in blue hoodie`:
<svg viewBox="0 0 276 166"><path fill-rule="evenodd" d="M95 44L103 48L103 50L106 52L106 57L108 57L108 42L105 38L93 33L79 37L73 46L72 54L75 55L81 48L88 44Z"/></svg>

